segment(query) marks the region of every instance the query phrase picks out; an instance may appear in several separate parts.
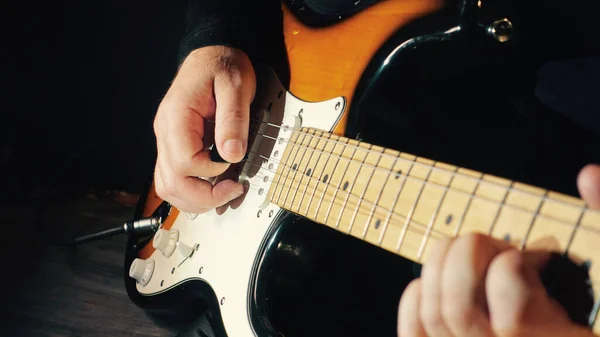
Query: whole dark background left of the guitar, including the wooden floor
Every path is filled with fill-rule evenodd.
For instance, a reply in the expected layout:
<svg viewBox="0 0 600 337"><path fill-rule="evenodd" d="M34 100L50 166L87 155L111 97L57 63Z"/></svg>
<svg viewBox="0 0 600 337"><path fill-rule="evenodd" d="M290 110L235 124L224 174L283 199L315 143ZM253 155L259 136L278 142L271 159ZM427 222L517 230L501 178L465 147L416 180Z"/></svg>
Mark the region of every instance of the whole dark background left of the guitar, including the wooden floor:
<svg viewBox="0 0 600 337"><path fill-rule="evenodd" d="M15 1L0 8L0 336L172 336L124 284L133 209L92 190L139 192L154 114L177 70L185 1Z"/></svg>

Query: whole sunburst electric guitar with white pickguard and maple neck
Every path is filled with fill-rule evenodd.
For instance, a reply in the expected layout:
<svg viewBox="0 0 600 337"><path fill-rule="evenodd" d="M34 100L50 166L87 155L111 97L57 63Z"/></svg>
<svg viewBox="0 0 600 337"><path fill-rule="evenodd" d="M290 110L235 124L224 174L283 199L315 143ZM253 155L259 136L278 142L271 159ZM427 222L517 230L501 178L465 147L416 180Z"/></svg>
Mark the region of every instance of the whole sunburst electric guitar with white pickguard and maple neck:
<svg viewBox="0 0 600 337"><path fill-rule="evenodd" d="M342 17L284 3L289 83L256 66L248 159L232 167L247 193L222 215L186 214L150 184L136 216L161 226L128 242L131 299L189 317L207 303L222 337L391 337L435 241L482 232L585 269L579 320L600 334L600 213L532 186L541 175L481 173L489 152L500 165L527 147L477 140L510 127L500 111L527 89L522 21L462 6L387 0ZM451 153L459 143L467 154Z"/></svg>

